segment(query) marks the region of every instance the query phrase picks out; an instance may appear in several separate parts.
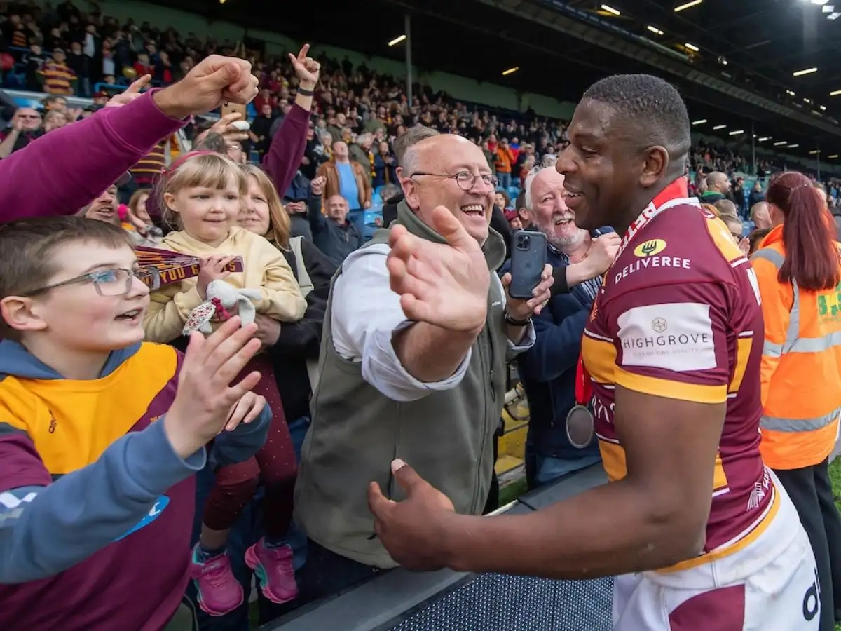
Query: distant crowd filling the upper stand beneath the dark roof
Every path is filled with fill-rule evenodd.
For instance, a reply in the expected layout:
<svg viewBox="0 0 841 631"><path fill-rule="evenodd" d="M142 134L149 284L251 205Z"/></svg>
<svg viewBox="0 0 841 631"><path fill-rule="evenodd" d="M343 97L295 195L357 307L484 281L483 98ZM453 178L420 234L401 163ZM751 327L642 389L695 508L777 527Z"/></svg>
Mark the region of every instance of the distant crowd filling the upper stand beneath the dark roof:
<svg viewBox="0 0 841 631"><path fill-rule="evenodd" d="M249 109L251 130L244 147L246 156L255 160L265 155L273 133L294 102L297 80L288 59L267 55L261 42L180 34L172 27L136 24L134 19L120 24L103 14L96 3L88 3L87 13L82 13L69 0L55 7L49 2L39 7L31 0L3 3L0 16L0 48L11 57L3 62L8 71L5 86L93 97L98 104L146 74L152 86L175 82L210 54L248 59L261 87ZM363 188L371 188L374 201L381 199L377 192L395 183L394 141L420 124L467 136L480 145L499 180L506 206L515 209L516 194L526 174L536 162L551 160L546 156L556 155L566 146L565 121L539 117L531 110L516 113L458 102L423 84L415 85L410 102L402 78L374 72L365 65L354 66L347 58L340 61L321 56L319 61L322 71L313 104L313 130L301 165L301 173L310 181L319 174L327 175L324 169L319 172L320 167L331 161L334 143L344 143L351 163L361 167L358 174ZM41 130L65 122L58 114L51 118ZM39 133L34 125L33 119L17 126L31 136ZM18 148L24 144L20 142ZM340 154L344 152L339 149ZM743 173L752 169L749 162L748 156L739 152L699 144L691 155L690 170ZM760 161L757 167L757 175L763 178L780 165ZM327 188L331 189L329 180ZM370 204L371 195L364 193L358 203L349 200L351 211Z"/></svg>

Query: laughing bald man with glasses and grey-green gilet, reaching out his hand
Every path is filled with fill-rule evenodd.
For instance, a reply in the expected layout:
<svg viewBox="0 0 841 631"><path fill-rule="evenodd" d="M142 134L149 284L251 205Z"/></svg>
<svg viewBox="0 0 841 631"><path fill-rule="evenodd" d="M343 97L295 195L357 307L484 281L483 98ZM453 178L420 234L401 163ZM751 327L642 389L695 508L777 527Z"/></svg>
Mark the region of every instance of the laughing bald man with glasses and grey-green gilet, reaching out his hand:
<svg viewBox="0 0 841 631"><path fill-rule="evenodd" d="M532 314L549 297L548 268L527 301L507 298L510 277L500 283L491 273L505 245L489 230L496 180L478 146L432 135L409 147L403 169L397 222L346 258L327 306L295 493L296 518L309 536L304 597L397 565L374 533L365 498L371 480L395 499L404 496L389 469L395 455L435 480L458 512L482 512L505 363L532 346ZM455 300L442 300L450 294L439 284L405 286L406 269L389 241L407 233L442 257L453 252L443 244L472 242L471 256L448 276ZM455 245L464 247L461 241ZM407 291L414 296L401 299Z"/></svg>

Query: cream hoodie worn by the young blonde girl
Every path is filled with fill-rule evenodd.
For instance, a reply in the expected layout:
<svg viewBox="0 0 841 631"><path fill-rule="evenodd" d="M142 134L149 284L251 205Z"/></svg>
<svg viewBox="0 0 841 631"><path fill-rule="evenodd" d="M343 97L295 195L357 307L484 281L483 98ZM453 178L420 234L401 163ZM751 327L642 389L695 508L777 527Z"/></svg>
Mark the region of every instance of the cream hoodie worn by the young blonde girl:
<svg viewBox="0 0 841 631"><path fill-rule="evenodd" d="M211 247L178 231L165 236L160 247L194 257L240 256L245 271L231 273L225 282L237 289L259 289L262 299L254 303L257 313L281 322L296 322L304 316L307 303L292 268L283 254L262 236L234 226L219 247ZM143 321L147 340L168 343L181 336L190 311L202 304L197 282L198 278L186 278L152 292ZM220 325L219 322L213 324L214 328Z"/></svg>

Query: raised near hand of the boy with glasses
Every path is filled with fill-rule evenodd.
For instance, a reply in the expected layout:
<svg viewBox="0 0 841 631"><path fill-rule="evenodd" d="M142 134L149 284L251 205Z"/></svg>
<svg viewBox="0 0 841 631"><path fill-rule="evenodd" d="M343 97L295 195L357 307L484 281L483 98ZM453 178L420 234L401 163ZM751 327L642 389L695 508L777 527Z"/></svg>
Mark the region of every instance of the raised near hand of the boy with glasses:
<svg viewBox="0 0 841 631"><path fill-rule="evenodd" d="M233 317L206 339L198 332L190 336L178 376L178 391L163 419L167 438L182 459L209 443L230 425L234 416L240 416L235 412L241 400L260 380L260 373L255 371L230 385L262 347L254 337L257 325L240 327L240 323L239 317ZM255 401L246 401L251 405L243 406L246 414L242 420L255 407Z"/></svg>

